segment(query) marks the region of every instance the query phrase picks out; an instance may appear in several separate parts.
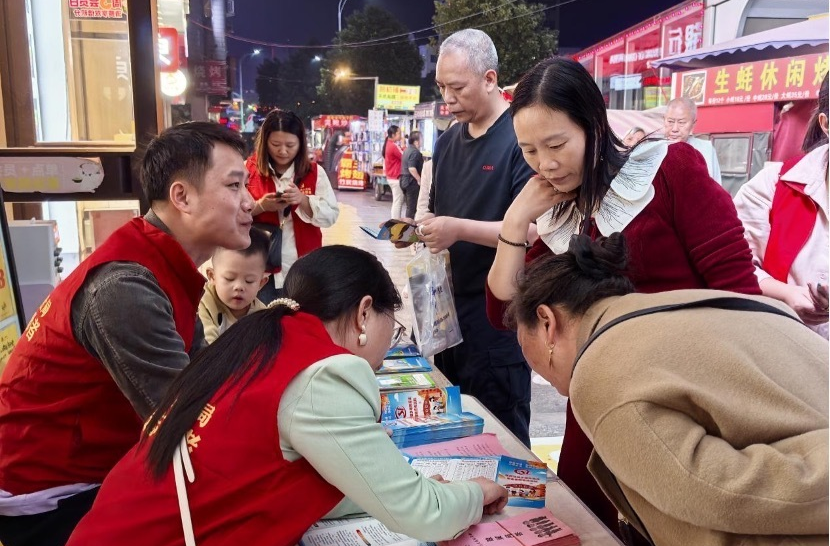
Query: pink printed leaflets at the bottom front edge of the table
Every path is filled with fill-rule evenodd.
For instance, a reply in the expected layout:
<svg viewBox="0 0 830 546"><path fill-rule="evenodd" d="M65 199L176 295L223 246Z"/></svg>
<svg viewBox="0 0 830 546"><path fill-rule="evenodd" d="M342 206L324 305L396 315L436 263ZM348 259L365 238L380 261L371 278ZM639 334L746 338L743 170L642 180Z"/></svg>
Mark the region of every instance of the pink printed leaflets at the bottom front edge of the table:
<svg viewBox="0 0 830 546"><path fill-rule="evenodd" d="M547 508L473 525L441 546L576 546L579 537ZM365 544L361 546L366 546Z"/></svg>

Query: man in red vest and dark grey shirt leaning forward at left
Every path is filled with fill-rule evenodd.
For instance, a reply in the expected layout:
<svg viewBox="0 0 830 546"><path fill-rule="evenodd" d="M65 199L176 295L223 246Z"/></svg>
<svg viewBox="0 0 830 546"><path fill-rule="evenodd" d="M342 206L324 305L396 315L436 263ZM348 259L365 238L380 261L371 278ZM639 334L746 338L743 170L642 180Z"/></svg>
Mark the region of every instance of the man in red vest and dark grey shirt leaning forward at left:
<svg viewBox="0 0 830 546"><path fill-rule="evenodd" d="M204 345L196 319L216 247L250 244L245 145L214 123L149 145L143 218L43 302L0 378L0 542L63 545L143 420Z"/></svg>

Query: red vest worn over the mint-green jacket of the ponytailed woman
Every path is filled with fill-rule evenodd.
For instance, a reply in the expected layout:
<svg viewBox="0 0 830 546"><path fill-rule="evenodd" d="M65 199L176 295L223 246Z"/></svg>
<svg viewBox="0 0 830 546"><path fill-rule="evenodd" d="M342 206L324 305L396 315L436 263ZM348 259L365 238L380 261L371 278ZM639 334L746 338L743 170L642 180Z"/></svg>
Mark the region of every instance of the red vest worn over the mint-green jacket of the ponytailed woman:
<svg viewBox="0 0 830 546"><path fill-rule="evenodd" d="M247 386L243 380L220 389L187 434L196 476L187 497L199 546L294 545L343 498L305 459L283 459L277 411L298 373L346 350L311 315L286 316L282 326L271 368ZM133 448L110 472L67 546L184 544L172 465L153 480L147 446Z"/></svg>

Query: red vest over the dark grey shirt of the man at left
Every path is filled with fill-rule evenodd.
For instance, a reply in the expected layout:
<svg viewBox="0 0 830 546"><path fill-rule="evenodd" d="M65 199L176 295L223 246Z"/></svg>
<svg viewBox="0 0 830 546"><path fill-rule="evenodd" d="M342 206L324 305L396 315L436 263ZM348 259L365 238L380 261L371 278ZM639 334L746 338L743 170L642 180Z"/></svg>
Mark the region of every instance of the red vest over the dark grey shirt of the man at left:
<svg viewBox="0 0 830 546"><path fill-rule="evenodd" d="M75 294L90 271L112 261L153 273L190 350L204 278L175 239L133 219L55 288L12 351L0 380L0 489L19 495L101 483L141 434L133 407L72 332Z"/></svg>

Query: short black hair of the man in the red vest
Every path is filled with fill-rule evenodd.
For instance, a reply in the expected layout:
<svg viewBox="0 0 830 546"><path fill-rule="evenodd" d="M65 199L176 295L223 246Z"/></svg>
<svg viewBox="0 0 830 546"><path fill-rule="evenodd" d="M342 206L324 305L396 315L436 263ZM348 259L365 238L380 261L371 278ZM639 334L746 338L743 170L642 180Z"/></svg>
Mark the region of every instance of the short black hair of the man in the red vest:
<svg viewBox="0 0 830 546"><path fill-rule="evenodd" d="M245 142L236 131L209 121L191 121L165 129L150 141L141 160L141 189L147 201L167 201L170 185L182 178L200 188L216 144L230 146L243 158Z"/></svg>

